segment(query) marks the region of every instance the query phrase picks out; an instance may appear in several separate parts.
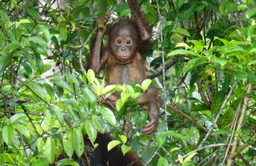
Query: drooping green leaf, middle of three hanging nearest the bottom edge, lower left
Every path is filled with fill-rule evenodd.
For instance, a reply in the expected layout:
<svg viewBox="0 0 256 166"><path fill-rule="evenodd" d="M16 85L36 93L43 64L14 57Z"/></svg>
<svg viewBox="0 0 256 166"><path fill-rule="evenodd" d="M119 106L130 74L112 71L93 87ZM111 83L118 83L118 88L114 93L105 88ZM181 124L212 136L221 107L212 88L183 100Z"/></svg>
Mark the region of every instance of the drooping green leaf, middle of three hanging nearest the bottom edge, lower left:
<svg viewBox="0 0 256 166"><path fill-rule="evenodd" d="M71 131L64 133L63 136L63 147L69 158L72 158L74 151L74 142L73 142L73 134Z"/></svg>

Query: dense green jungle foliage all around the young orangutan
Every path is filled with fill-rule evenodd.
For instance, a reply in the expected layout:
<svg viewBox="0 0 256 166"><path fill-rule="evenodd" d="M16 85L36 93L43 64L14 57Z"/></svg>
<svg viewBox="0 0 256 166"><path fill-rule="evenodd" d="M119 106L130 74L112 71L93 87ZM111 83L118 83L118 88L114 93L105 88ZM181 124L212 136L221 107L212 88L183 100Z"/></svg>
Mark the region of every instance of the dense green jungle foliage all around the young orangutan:
<svg viewBox="0 0 256 166"><path fill-rule="evenodd" d="M86 57L95 18L131 18L125 1L0 1L0 165L78 165L56 157L81 156L83 136L104 132L114 138L109 150L131 149L145 165L256 165L255 1L147 0L140 10L154 30L152 80L106 86L104 72L85 71ZM145 136L136 98L149 84L162 109ZM113 91L114 108L102 103Z"/></svg>

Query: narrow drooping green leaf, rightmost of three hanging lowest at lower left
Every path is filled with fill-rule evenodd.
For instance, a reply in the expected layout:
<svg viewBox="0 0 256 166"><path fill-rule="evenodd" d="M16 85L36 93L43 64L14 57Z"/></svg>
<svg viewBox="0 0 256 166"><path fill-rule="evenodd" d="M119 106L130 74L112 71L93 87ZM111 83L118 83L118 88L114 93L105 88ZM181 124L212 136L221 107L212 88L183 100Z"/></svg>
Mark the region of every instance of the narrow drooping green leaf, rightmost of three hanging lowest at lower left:
<svg viewBox="0 0 256 166"><path fill-rule="evenodd" d="M74 129L73 130L73 141L74 142L74 148L75 153L78 157L82 156L82 153L84 151L84 138L82 137L82 131L81 129Z"/></svg>

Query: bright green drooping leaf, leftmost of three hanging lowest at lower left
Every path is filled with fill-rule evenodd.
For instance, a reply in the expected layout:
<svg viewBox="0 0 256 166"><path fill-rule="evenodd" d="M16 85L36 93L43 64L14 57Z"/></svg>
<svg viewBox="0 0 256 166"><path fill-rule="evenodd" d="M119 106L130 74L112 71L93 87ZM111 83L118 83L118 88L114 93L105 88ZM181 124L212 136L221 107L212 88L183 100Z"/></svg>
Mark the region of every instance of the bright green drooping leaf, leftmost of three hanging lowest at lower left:
<svg viewBox="0 0 256 166"><path fill-rule="evenodd" d="M48 137L46 144L44 145L44 156L49 163L54 163L56 155L55 140L52 137Z"/></svg>

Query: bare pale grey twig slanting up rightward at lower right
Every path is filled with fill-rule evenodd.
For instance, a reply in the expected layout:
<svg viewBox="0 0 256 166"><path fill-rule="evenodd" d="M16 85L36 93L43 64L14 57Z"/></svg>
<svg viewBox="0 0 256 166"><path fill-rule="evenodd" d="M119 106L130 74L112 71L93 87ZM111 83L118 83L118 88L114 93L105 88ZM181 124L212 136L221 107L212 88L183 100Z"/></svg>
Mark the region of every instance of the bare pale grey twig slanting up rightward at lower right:
<svg viewBox="0 0 256 166"><path fill-rule="evenodd" d="M205 137L203 138L202 142L200 143L200 145L197 147L197 149L201 148L203 146L203 143L207 140L207 138L210 136L210 134L212 133L212 130L213 128L215 127L215 125L217 124L218 120L219 120L219 117L221 116L221 113L224 109L224 107L226 106L231 94L232 94L232 91L235 89L235 86L237 85L237 82L235 82L233 85L232 85L232 88L230 89L226 99L224 100L223 104L221 105L221 109L219 110L219 113L217 114L214 122L212 123L212 126L210 127L210 129L208 130L208 133L206 133Z"/></svg>

